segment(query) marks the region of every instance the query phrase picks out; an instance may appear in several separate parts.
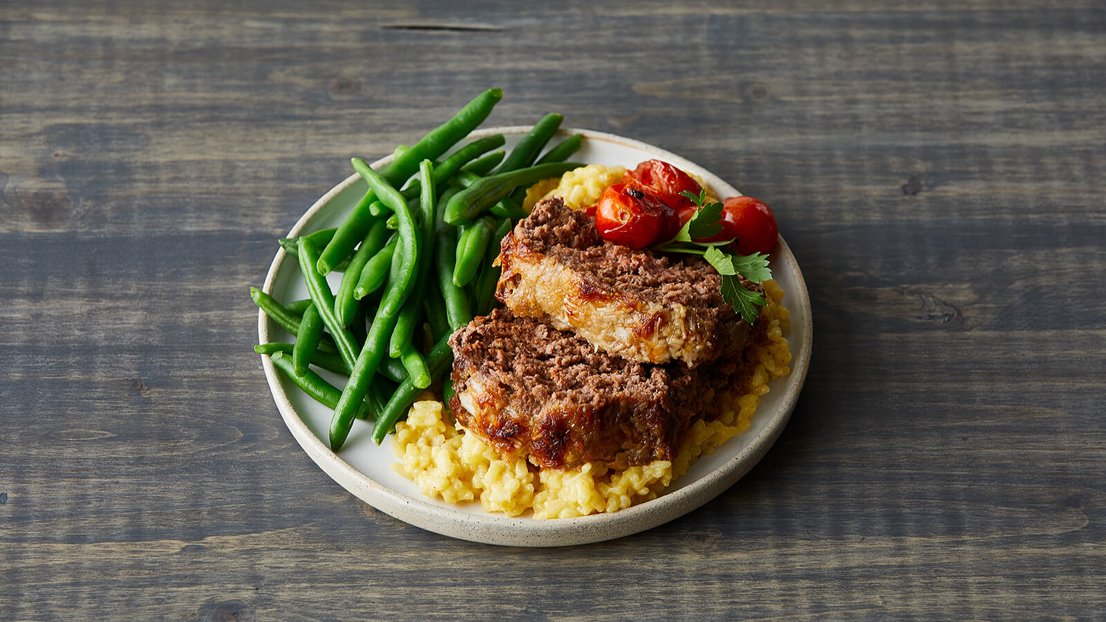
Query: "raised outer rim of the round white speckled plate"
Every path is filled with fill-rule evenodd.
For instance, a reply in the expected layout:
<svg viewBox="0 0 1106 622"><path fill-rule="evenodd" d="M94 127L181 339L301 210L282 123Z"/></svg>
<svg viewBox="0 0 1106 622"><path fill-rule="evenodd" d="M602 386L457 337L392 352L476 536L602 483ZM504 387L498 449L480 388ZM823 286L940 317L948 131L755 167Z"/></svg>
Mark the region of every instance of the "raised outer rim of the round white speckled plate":
<svg viewBox="0 0 1106 622"><path fill-rule="evenodd" d="M512 125L480 128L473 131L468 137L479 138L492 134L523 134L529 132L531 127L529 125ZM685 170L699 175L708 185L726 196L740 194L737 188L706 168L677 154L640 141L575 127L560 128L556 134L567 136L576 133L582 134L586 139L605 141L653 154ZM389 154L375 160L371 166L373 168L387 166L393 157L394 155ZM361 176L354 173L326 191L300 216L289 231L288 237L299 235L311 219L330 201L353 184L358 183L359 179ZM656 499L615 512L575 518L519 518L487 512L469 514L451 508L444 508L428 500L410 497L374 480L368 474L356 469L353 465L332 452L322 439L311 432L296 413L288 395L284 393L278 371L269 356L264 354L260 355L261 364L273 401L276 403L284 424L300 444L300 447L331 479L364 502L389 516L444 536L501 546L557 547L592 543L629 536L688 514L731 487L764 457L791 418L810 367L811 348L813 345L813 322L811 318L810 293L807 292L806 282L799 268L799 263L791 252L790 247L787 247L786 241L784 241L783 236L778 236L776 245L779 251L776 252L776 257L773 258L773 262L779 261L786 266L796 287L796 291L789 293L794 294L796 299L795 304L804 311L803 342L800 344L799 356L792 360L791 374L787 376L789 380L782 398L783 402L779 411L774 413L773 418L764 429L751 439L745 447L714 470L707 473L686 486L660 495ZM289 257L283 248L278 249L265 274L262 291L272 293L278 272ZM791 304L789 304L789 308L792 308ZM269 319L264 312L258 310L258 336L261 340L260 343L270 341L269 323ZM382 444L380 447L385 447L385 444Z"/></svg>

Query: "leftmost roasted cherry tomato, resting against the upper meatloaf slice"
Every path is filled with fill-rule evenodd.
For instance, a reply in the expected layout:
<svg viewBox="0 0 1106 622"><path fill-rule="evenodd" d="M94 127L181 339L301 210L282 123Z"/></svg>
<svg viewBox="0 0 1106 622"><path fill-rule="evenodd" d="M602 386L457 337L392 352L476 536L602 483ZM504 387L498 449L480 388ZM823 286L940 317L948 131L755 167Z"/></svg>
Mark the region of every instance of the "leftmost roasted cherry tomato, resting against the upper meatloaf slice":
<svg viewBox="0 0 1106 622"><path fill-rule="evenodd" d="M599 235L633 249L653 243L664 225L665 206L633 185L611 186L595 206L595 226Z"/></svg>

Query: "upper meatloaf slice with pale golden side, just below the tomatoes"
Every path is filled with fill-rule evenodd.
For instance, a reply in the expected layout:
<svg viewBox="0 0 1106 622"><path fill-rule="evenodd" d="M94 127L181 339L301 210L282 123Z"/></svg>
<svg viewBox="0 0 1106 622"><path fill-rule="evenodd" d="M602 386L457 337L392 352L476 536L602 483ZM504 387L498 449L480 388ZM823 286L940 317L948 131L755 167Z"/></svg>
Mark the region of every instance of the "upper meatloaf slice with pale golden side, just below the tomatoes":
<svg viewBox="0 0 1106 622"><path fill-rule="evenodd" d="M500 261L495 296L515 315L575 331L616 356L695 367L749 343L751 326L722 299L709 263L606 241L592 217L556 197L503 238Z"/></svg>

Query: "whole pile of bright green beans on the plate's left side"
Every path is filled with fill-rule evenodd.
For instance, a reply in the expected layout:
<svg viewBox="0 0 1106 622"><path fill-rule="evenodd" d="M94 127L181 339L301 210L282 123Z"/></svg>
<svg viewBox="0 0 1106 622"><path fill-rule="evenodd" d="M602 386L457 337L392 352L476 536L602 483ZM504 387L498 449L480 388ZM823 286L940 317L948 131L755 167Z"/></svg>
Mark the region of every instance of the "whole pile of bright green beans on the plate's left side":
<svg viewBox="0 0 1106 622"><path fill-rule="evenodd" d="M295 341L254 346L315 401L334 410L330 445L338 450L356 418L374 419L377 444L419 394L452 364L449 336L495 305L500 242L522 218L525 188L581 164L570 136L539 158L562 116L542 117L510 152L502 135L478 138L442 158L491 113L499 89L478 95L451 120L374 170L353 158L368 191L342 224L281 247L303 273L310 298L282 304L257 288L258 307ZM341 271L332 291L326 281ZM341 379L338 388L313 371Z"/></svg>

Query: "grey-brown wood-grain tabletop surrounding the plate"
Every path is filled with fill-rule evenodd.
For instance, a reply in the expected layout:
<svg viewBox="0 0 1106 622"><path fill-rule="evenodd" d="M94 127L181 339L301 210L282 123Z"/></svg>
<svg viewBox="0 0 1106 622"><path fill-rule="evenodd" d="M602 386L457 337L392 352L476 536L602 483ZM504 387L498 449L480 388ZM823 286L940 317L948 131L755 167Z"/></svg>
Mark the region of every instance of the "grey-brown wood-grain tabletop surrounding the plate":
<svg viewBox="0 0 1106 622"><path fill-rule="evenodd" d="M0 619L1104 615L1100 2L455 4L0 6ZM799 258L799 406L684 518L453 540L273 404L276 238L490 86L700 163Z"/></svg>

